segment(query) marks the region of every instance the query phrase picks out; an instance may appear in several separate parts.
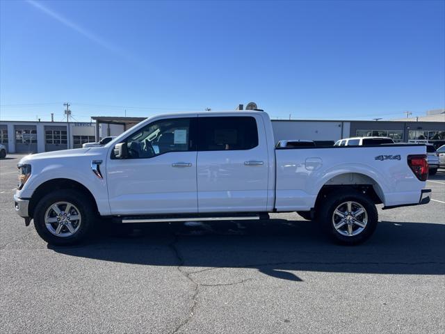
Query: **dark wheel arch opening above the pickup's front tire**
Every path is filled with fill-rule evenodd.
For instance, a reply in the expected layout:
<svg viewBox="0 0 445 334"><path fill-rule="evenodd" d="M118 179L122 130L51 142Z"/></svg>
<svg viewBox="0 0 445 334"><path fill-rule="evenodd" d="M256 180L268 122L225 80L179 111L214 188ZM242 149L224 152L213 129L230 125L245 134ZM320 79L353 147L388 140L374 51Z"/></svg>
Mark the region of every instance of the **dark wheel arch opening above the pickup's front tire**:
<svg viewBox="0 0 445 334"><path fill-rule="evenodd" d="M35 191L33 191L33 195L29 201L29 216L33 217L35 207L43 196L51 191L60 189L77 189L85 193L85 195L88 196L88 199L93 203L96 212L99 212L95 197L92 196L91 191L86 186L72 179L58 178L43 182L37 189L35 189Z"/></svg>

